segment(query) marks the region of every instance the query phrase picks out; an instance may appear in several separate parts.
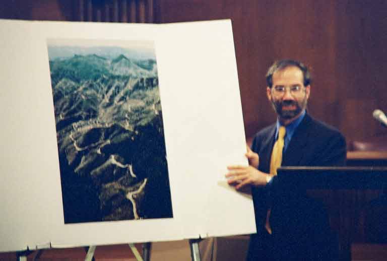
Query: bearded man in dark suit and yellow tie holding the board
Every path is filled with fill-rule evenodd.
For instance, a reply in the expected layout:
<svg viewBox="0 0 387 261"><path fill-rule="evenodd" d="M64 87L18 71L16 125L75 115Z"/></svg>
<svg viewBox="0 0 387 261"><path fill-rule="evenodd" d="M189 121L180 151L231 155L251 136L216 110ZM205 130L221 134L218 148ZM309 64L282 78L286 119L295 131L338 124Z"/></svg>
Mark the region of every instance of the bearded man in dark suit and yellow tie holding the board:
<svg viewBox="0 0 387 261"><path fill-rule="evenodd" d="M334 260L322 206L301 191L279 191L276 174L281 165L345 165L345 139L306 112L311 79L303 63L276 61L266 79L277 122L255 135L246 153L249 166L229 166L226 174L236 189L252 185L257 233L247 260Z"/></svg>

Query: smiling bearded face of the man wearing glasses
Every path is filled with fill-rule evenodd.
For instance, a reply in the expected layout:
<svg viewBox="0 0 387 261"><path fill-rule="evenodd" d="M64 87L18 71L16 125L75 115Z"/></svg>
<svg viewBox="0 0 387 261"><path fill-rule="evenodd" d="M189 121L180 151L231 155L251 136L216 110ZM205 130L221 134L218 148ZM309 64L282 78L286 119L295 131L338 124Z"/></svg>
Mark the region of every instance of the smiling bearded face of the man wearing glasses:
<svg viewBox="0 0 387 261"><path fill-rule="evenodd" d="M306 108L310 86L304 86L302 71L291 66L273 74L273 86L267 95L281 120L291 122Z"/></svg>

